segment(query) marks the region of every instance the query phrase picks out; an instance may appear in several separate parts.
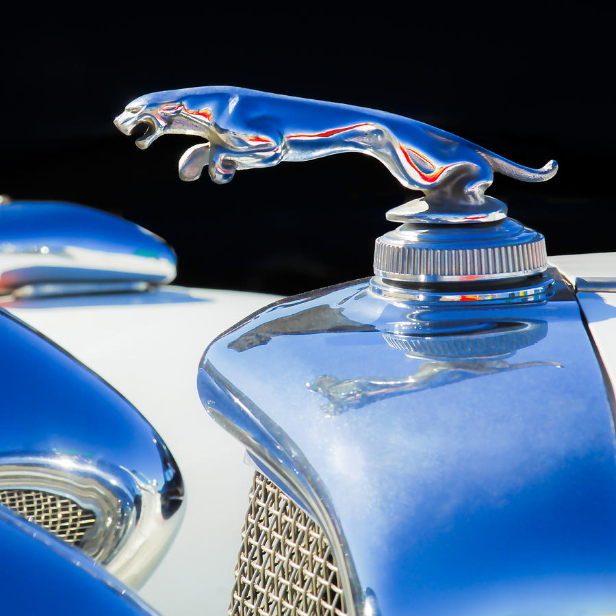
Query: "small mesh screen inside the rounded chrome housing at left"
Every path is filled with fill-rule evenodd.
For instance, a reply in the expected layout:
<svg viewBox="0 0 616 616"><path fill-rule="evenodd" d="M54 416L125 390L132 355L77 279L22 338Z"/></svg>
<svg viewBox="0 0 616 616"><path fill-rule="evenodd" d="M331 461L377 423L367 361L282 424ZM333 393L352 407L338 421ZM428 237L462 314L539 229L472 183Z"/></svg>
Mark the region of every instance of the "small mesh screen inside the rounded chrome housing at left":
<svg viewBox="0 0 616 616"><path fill-rule="evenodd" d="M97 521L93 511L81 509L68 498L40 490L2 489L0 504L75 546L79 546L86 530Z"/></svg>

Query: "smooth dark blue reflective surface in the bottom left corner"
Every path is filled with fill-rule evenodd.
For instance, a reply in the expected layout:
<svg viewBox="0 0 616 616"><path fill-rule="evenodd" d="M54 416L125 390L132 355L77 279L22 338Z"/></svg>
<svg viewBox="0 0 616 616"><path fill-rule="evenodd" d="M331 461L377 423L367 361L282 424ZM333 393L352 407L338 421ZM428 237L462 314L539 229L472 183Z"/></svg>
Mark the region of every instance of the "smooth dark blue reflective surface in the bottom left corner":
<svg viewBox="0 0 616 616"><path fill-rule="evenodd" d="M101 565L2 506L0 546L3 613L155 615Z"/></svg>

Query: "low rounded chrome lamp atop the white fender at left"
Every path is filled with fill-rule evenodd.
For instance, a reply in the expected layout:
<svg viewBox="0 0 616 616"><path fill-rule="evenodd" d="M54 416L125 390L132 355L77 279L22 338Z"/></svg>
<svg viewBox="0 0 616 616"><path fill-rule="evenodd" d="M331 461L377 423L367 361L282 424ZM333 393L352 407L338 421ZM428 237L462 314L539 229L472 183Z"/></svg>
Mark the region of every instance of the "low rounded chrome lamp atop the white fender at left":
<svg viewBox="0 0 616 616"><path fill-rule="evenodd" d="M0 293L134 290L175 278L172 249L137 224L90 207L12 201L0 207Z"/></svg>

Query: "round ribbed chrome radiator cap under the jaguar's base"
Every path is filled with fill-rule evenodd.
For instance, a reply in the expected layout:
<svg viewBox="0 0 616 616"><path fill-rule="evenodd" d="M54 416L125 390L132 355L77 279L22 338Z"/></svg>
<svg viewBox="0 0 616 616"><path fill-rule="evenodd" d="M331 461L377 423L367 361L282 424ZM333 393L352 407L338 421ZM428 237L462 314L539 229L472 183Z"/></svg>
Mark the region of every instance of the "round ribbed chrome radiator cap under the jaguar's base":
<svg viewBox="0 0 616 616"><path fill-rule="evenodd" d="M443 222L405 222L377 238L374 274L389 280L450 283L526 277L548 267L543 235L516 220Z"/></svg>

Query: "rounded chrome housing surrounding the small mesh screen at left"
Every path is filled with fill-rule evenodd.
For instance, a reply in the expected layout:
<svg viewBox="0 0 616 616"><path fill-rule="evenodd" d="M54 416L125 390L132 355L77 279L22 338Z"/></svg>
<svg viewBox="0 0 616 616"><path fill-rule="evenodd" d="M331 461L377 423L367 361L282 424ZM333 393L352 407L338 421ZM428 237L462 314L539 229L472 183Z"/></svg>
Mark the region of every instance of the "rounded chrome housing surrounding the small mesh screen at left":
<svg viewBox="0 0 616 616"><path fill-rule="evenodd" d="M49 493L93 511L79 548L138 587L183 515L175 461L125 398L4 311L0 343L0 491Z"/></svg>

